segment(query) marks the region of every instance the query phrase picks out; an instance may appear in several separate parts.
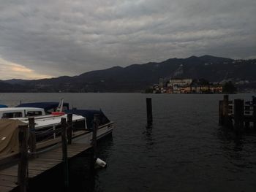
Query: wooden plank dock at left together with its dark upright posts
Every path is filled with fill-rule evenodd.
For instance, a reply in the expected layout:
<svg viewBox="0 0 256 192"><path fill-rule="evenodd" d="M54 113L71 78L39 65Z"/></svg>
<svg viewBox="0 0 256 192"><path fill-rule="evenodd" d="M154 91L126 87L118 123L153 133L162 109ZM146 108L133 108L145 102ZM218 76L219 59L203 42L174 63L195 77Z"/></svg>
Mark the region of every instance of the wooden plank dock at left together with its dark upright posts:
<svg viewBox="0 0 256 192"><path fill-rule="evenodd" d="M63 165L64 186L67 188L69 186L68 160L90 148L93 148L95 158L98 118L98 115L94 115L91 144L72 141L72 138L82 137L89 132L76 131L75 134L72 133L72 115L68 115L67 122L66 118L61 118L61 137L50 140L48 145L43 143L45 146L35 142L35 134L31 131L34 128L34 118L29 120L29 126L19 126L19 153L0 159L0 192L16 191L16 189L26 192L29 179L37 177L59 164ZM39 146L40 148L38 148ZM12 161L12 166L10 166L10 161Z"/></svg>

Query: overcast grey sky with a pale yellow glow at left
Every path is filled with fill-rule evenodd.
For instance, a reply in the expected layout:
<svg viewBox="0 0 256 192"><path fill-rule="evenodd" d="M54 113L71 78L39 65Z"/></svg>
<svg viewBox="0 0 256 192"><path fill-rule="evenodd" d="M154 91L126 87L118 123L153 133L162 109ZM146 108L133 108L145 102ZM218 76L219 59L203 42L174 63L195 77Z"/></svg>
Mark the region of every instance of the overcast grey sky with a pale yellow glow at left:
<svg viewBox="0 0 256 192"><path fill-rule="evenodd" d="M255 0L0 0L0 80L256 58Z"/></svg>

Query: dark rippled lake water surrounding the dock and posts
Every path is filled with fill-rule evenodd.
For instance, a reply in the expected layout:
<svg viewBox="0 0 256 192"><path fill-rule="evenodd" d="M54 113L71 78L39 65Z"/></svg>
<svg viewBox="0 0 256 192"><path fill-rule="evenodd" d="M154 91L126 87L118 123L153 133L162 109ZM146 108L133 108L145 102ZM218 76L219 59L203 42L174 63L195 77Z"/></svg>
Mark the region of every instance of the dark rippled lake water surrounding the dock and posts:
<svg viewBox="0 0 256 192"><path fill-rule="evenodd" d="M252 95L256 94L230 95L230 99L251 100ZM152 128L146 128L146 97L152 98ZM108 167L97 170L89 188L81 182L86 155L72 163L72 180L80 181L72 186L75 191L256 191L256 134L236 137L218 126L222 97L0 93L0 104L64 98L70 107L101 108L116 122L113 137L99 144L99 157Z"/></svg>

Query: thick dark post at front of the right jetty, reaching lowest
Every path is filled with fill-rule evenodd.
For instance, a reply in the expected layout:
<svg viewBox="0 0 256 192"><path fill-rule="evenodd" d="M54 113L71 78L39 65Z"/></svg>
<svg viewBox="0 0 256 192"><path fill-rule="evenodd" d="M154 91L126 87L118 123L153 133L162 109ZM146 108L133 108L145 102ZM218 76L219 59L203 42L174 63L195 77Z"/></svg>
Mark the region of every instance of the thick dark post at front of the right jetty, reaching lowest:
<svg viewBox="0 0 256 192"><path fill-rule="evenodd" d="M234 128L236 131L241 131L244 128L244 100L234 100Z"/></svg>

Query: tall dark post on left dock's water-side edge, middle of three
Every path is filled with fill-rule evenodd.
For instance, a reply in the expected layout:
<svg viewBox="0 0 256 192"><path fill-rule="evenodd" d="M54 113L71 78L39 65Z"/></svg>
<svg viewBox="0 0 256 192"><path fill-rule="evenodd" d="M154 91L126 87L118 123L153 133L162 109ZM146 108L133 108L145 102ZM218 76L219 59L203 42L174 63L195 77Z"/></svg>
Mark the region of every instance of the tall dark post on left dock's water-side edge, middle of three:
<svg viewBox="0 0 256 192"><path fill-rule="evenodd" d="M64 165L64 186L69 187L69 167L67 161L67 123L66 118L61 118L61 142L62 142L62 161Z"/></svg>

